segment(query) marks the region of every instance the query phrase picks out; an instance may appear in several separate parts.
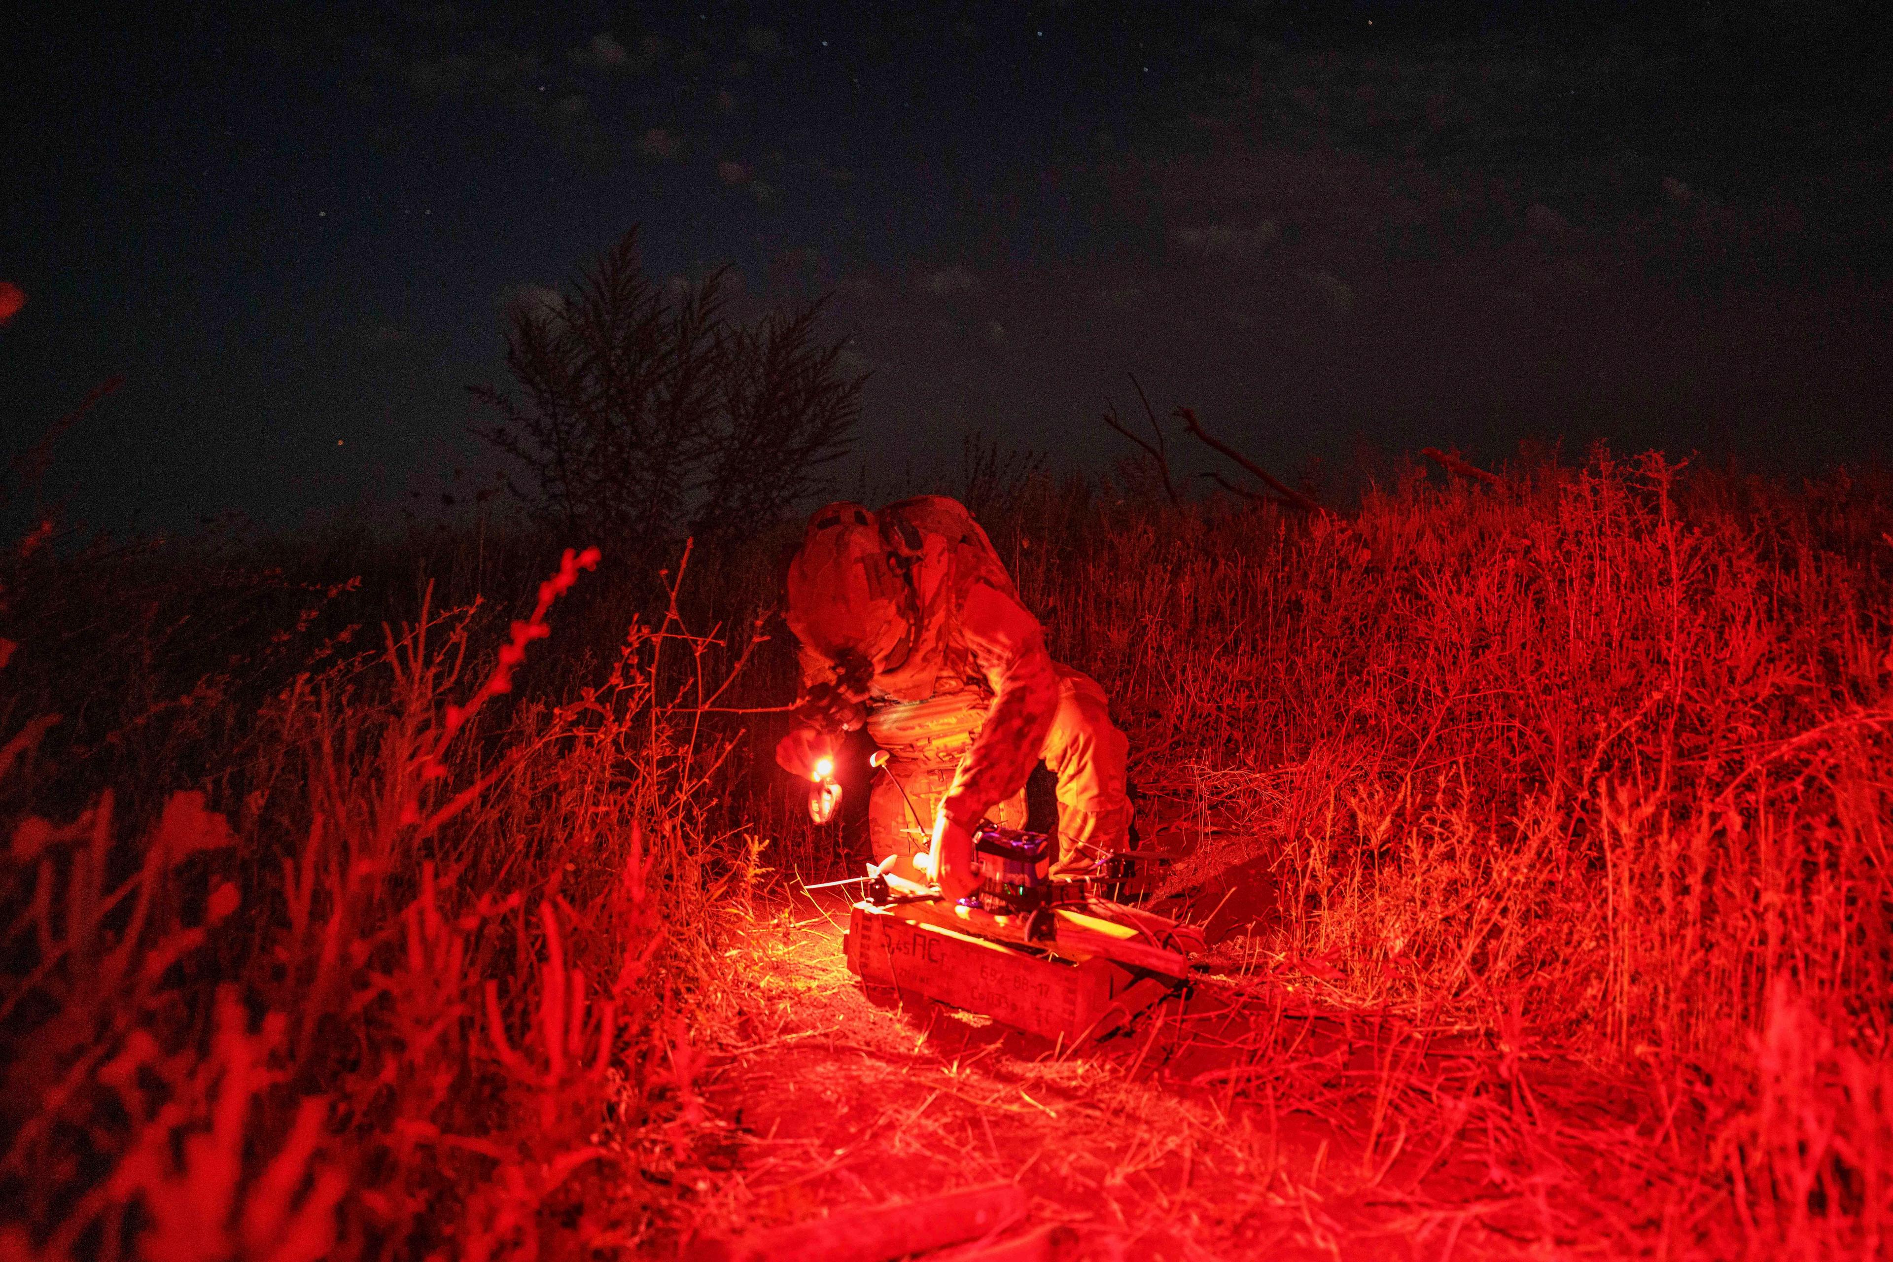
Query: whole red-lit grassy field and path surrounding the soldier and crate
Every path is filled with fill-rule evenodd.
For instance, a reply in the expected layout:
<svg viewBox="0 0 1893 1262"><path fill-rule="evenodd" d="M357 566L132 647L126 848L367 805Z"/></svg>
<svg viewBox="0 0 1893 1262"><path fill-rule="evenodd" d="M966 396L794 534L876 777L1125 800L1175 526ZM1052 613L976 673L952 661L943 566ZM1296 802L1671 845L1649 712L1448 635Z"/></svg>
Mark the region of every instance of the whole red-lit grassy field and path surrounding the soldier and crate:
<svg viewBox="0 0 1893 1262"><path fill-rule="evenodd" d="M1081 1050L875 1007L799 893L858 838L767 762L793 530L15 549L0 1256L746 1256L990 1181L967 1256L1887 1251L1893 488L975 507L1215 940Z"/></svg>

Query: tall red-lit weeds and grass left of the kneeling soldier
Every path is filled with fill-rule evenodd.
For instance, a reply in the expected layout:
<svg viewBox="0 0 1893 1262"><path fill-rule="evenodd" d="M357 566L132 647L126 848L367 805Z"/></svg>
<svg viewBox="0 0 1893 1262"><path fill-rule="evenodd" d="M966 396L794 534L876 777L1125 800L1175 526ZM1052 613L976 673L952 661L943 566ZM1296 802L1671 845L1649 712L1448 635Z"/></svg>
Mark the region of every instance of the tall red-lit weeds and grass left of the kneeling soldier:
<svg viewBox="0 0 1893 1262"><path fill-rule="evenodd" d="M424 596L305 636L261 694L267 670L146 660L131 675L182 696L100 725L21 704L93 696L19 615L34 583L83 604L57 588L87 556L15 558L9 622L42 643L8 641L0 674L0 1254L500 1258L663 1228L700 1175L704 963L759 853L704 833L731 738L700 710L727 677L674 598L587 687L502 711L594 560L568 551L498 643L479 605ZM345 592L305 596L299 632ZM134 791L57 764L87 753Z"/></svg>

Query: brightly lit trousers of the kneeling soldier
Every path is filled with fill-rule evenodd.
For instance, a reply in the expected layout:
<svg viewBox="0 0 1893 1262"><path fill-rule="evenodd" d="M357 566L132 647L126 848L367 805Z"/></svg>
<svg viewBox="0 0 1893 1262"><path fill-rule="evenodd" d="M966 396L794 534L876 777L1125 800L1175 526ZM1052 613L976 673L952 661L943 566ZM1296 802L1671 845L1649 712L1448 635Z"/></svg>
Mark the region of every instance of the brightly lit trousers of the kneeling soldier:
<svg viewBox="0 0 1893 1262"><path fill-rule="evenodd" d="M1124 757L1130 742L1111 723L1104 689L1090 675L1058 666L1058 708L1039 757L1058 780L1058 863L1054 872L1087 870L1092 861L1130 848L1130 798ZM875 859L899 855L895 870L914 876L912 855L933 840L933 812L986 721L990 696L979 689L924 702L876 706L867 732L888 751L886 774L875 778L867 808ZM905 791L905 795L903 795ZM1020 789L990 808L998 825L1026 825Z"/></svg>

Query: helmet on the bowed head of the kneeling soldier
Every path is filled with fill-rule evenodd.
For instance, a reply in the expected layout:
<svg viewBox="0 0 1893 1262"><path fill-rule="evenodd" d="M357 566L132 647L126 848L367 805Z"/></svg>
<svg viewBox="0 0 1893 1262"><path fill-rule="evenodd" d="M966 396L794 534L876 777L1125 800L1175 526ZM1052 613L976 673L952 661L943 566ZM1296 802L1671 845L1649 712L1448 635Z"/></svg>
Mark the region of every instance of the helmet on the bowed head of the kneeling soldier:
<svg viewBox="0 0 1893 1262"><path fill-rule="evenodd" d="M789 562L787 622L795 638L833 662L888 664L911 628L911 588L859 503L816 509Z"/></svg>

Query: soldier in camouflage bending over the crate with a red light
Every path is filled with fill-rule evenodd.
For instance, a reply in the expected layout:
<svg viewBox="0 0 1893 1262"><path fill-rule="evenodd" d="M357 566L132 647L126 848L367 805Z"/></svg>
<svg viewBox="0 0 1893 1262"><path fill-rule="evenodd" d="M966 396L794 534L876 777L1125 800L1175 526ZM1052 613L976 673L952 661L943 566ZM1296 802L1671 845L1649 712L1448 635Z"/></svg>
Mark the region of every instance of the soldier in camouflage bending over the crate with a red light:
<svg viewBox="0 0 1893 1262"><path fill-rule="evenodd" d="M831 503L808 518L787 587L803 687L776 761L812 778L840 734L865 725L888 751L869 802L876 861L893 855L893 870L931 874L948 897L971 893L973 829L1024 825L1039 759L1058 778L1053 874L1081 874L1128 848L1128 742L1104 689L1051 660L964 505Z"/></svg>

